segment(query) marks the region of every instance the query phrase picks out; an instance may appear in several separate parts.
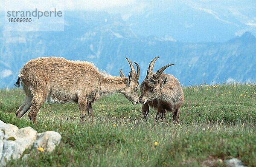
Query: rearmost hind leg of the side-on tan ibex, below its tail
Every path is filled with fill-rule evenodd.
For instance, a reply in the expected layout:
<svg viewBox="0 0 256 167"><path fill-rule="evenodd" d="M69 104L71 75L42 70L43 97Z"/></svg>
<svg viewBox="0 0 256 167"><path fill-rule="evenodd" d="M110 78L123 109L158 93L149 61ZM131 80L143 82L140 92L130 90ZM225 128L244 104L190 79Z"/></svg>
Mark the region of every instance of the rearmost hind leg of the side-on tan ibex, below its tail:
<svg viewBox="0 0 256 167"><path fill-rule="evenodd" d="M30 91L24 87L24 91L26 93L26 97L22 103L22 105L20 105L19 109L15 112L15 115L17 118L21 118L31 107L31 100L32 100L32 95L30 93Z"/></svg>

